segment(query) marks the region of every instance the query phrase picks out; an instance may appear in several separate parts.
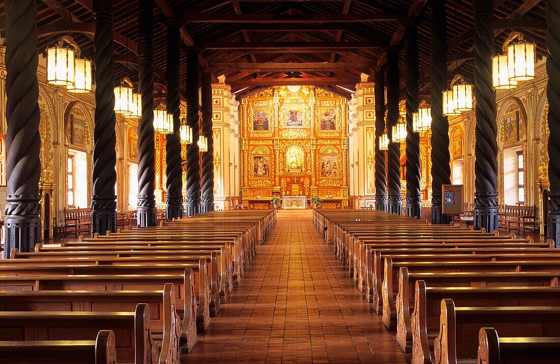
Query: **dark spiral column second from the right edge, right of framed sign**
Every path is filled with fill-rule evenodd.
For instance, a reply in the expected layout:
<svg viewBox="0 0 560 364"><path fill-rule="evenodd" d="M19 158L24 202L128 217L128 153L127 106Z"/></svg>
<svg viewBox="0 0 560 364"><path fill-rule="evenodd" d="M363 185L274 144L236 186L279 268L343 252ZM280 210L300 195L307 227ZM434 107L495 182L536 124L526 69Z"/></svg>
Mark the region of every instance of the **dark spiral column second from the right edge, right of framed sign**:
<svg viewBox="0 0 560 364"><path fill-rule="evenodd" d="M492 88L494 31L493 4L474 0L474 96L477 125L474 147L474 228L498 229L498 145L496 142L496 93Z"/></svg>

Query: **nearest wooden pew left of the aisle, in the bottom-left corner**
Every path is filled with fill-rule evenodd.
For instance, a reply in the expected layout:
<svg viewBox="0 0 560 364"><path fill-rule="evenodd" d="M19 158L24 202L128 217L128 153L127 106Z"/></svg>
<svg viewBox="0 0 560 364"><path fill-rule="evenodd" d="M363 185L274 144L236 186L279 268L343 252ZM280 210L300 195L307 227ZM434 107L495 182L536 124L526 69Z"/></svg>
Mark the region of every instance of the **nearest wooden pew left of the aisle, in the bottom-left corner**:
<svg viewBox="0 0 560 364"><path fill-rule="evenodd" d="M116 364L115 334L101 330L95 341L0 341L0 357L8 363Z"/></svg>

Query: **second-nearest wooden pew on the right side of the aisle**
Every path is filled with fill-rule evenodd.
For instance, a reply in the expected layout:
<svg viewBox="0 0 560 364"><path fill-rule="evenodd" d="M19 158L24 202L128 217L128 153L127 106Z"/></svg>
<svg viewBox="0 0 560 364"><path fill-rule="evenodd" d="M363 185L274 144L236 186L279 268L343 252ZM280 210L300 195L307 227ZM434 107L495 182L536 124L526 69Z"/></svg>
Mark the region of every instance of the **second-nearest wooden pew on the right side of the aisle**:
<svg viewBox="0 0 560 364"><path fill-rule="evenodd" d="M475 363L480 327L494 327L503 335L553 337L559 325L560 307L456 307L453 300L445 299L434 341L435 362Z"/></svg>

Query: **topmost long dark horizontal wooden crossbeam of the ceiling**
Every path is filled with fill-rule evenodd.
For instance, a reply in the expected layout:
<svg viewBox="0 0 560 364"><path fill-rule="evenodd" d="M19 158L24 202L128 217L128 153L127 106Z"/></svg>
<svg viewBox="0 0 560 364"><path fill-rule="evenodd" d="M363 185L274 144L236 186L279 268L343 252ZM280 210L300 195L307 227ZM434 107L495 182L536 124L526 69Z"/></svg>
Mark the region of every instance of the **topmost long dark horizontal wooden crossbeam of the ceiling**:
<svg viewBox="0 0 560 364"><path fill-rule="evenodd" d="M166 0L156 0L157 2ZM423 0L424 2L426 0ZM402 13L379 14L198 14L184 12L184 23L363 23L403 20Z"/></svg>

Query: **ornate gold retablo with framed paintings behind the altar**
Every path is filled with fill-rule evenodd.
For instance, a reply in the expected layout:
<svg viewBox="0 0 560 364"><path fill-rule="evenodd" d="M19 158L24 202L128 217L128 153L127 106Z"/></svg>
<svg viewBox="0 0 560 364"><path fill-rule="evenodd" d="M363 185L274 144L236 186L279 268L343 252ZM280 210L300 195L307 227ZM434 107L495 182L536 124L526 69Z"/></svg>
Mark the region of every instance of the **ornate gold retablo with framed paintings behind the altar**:
<svg viewBox="0 0 560 364"><path fill-rule="evenodd" d="M270 87L241 101L242 201L273 193L348 206L348 100L314 86Z"/></svg>

